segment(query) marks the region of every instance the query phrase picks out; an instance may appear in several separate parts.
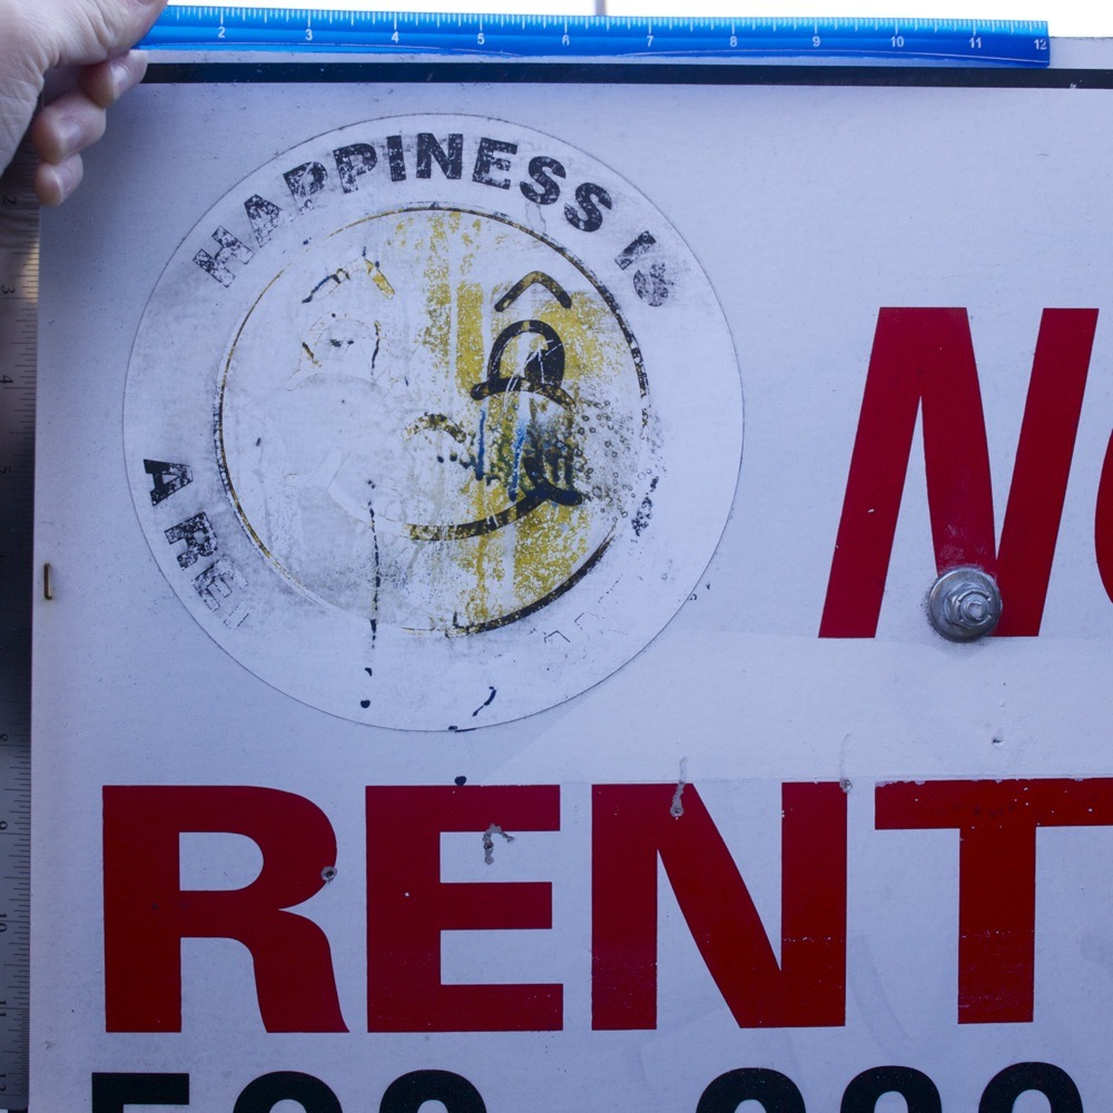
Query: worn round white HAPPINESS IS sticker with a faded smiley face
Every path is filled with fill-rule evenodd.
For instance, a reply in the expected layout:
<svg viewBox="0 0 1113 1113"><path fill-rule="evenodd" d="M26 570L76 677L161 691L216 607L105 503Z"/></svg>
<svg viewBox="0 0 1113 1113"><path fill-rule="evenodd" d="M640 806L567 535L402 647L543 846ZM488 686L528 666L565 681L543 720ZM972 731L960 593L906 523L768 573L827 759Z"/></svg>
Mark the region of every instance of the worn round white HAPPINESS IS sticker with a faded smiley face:
<svg viewBox="0 0 1113 1113"><path fill-rule="evenodd" d="M641 650L715 550L737 366L695 258L539 132L404 117L233 189L128 373L129 477L179 598L322 710L466 729Z"/></svg>

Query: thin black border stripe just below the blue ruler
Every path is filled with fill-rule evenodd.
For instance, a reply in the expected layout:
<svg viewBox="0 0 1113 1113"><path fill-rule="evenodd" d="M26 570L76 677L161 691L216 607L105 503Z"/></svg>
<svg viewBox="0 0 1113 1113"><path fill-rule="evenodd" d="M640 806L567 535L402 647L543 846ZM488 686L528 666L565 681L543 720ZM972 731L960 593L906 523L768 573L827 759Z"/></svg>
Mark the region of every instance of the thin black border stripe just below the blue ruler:
<svg viewBox="0 0 1113 1113"><path fill-rule="evenodd" d="M1113 70L965 66L692 66L639 62L155 62L155 85L727 85L1113 89Z"/></svg>

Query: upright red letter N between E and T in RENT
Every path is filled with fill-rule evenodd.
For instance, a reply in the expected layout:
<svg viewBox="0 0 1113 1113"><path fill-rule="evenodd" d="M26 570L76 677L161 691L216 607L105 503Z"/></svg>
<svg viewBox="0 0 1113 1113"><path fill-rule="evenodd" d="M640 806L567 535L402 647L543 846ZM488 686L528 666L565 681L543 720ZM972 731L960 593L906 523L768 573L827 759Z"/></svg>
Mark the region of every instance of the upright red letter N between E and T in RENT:
<svg viewBox="0 0 1113 1113"><path fill-rule="evenodd" d="M600 785L592 808L592 1027L657 1026L657 859L739 1027L840 1025L846 795L781 789L781 961L696 789Z"/></svg>

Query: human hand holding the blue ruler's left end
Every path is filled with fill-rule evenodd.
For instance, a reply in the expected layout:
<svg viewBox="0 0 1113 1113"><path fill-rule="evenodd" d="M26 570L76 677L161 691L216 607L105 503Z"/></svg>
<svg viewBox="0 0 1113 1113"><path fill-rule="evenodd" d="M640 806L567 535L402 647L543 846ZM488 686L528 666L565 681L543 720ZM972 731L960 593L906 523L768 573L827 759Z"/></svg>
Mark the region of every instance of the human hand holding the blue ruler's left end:
<svg viewBox="0 0 1113 1113"><path fill-rule="evenodd" d="M47 73L77 67L77 85L31 126L41 159L35 188L60 205L78 187L81 151L105 132L105 112L147 68L129 47L147 33L166 0L0 0L0 170L35 114Z"/></svg>

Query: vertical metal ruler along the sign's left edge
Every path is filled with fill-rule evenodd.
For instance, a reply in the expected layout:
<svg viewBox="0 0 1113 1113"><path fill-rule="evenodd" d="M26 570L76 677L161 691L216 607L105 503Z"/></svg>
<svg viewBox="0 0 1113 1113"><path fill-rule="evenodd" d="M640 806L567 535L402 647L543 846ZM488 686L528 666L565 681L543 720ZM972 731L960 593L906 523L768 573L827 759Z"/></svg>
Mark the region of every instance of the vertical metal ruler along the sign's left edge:
<svg viewBox="0 0 1113 1113"><path fill-rule="evenodd" d="M39 207L21 151L0 178L0 1109L28 1104L31 542Z"/></svg>

